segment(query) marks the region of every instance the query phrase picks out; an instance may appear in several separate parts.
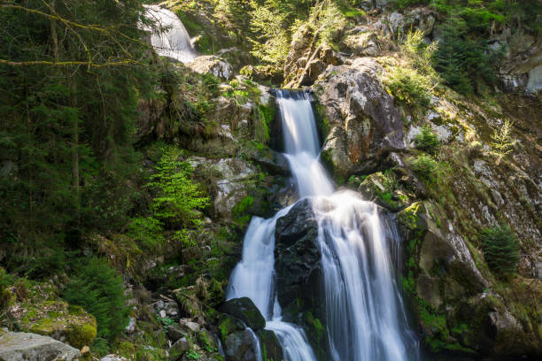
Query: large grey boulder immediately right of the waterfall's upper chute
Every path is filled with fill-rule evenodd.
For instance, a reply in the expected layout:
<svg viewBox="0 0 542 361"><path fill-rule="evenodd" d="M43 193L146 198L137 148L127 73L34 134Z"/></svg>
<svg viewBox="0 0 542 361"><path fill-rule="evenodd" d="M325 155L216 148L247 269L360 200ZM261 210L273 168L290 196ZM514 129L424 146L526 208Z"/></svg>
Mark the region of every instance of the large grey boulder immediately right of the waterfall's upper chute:
<svg viewBox="0 0 542 361"><path fill-rule="evenodd" d="M368 160L406 148L403 122L378 78L382 68L372 58L328 69L315 85L330 132L322 157L335 173L367 170Z"/></svg>

